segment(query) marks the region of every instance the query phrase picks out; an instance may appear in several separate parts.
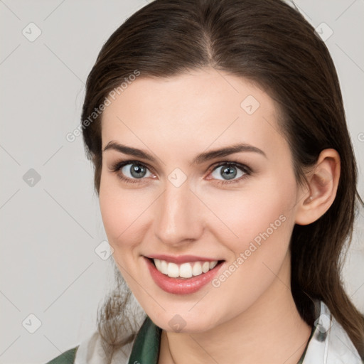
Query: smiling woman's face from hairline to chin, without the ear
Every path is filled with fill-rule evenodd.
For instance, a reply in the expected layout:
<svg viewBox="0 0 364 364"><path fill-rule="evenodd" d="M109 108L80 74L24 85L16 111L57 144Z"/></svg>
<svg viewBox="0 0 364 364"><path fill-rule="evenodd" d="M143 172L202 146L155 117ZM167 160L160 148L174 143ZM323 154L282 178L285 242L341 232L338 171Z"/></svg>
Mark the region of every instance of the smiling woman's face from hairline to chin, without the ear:
<svg viewBox="0 0 364 364"><path fill-rule="evenodd" d="M245 147L210 154L237 144ZM137 77L105 109L102 149L100 208L109 244L154 323L206 331L279 302L289 287L289 240L302 195L267 93L210 68ZM156 255L168 256L157 265L169 271L146 258ZM219 264L203 273L212 261Z"/></svg>

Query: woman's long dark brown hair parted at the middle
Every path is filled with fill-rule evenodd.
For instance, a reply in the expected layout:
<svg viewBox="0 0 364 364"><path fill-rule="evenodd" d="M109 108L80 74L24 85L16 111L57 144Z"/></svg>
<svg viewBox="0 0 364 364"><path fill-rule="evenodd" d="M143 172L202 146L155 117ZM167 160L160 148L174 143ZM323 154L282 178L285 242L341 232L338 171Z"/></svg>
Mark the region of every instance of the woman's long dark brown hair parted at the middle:
<svg viewBox="0 0 364 364"><path fill-rule="evenodd" d="M210 66L252 80L267 90L282 112L279 125L294 157L299 183L323 149L341 157L336 198L314 223L295 225L291 236L291 291L302 318L314 325L312 299L322 300L364 356L364 318L341 282L341 252L349 245L358 203L357 167L333 60L303 16L277 0L156 0L117 28L102 46L87 78L82 120L135 70L141 77L171 77ZM101 119L82 124L87 156L95 167L95 190L102 169ZM347 245L346 245L347 242ZM117 279L122 277L117 273ZM128 292L128 294L130 291ZM129 295L119 286L98 319L105 348L125 341ZM117 304L119 302L119 304Z"/></svg>

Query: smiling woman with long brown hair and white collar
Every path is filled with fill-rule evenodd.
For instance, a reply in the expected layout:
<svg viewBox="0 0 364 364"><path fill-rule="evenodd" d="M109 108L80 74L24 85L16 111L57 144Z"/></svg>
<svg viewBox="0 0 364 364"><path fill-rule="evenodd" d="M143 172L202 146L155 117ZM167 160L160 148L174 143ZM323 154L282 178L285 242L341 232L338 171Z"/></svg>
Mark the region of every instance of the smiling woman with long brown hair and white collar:
<svg viewBox="0 0 364 364"><path fill-rule="evenodd" d="M355 156L299 12L144 6L103 45L81 128L119 284L50 363L363 363L339 259L363 205Z"/></svg>

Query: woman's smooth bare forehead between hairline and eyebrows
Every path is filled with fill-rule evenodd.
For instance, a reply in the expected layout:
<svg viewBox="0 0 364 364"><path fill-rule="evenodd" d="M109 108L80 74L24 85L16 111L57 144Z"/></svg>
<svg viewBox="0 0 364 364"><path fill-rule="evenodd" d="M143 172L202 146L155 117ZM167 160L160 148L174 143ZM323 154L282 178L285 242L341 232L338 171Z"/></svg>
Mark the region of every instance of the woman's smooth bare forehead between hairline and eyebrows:
<svg viewBox="0 0 364 364"><path fill-rule="evenodd" d="M102 148L111 140L171 154L186 153L188 146L198 146L199 152L241 142L263 150L285 144L274 100L242 77L213 69L169 78L141 76L109 99L102 115Z"/></svg>

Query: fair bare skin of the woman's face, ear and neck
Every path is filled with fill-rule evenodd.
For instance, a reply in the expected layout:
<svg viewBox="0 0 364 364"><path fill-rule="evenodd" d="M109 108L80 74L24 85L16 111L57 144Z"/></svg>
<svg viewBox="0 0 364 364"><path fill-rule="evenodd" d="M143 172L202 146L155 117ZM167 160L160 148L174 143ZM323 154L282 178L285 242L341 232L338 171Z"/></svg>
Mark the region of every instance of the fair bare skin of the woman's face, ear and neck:
<svg viewBox="0 0 364 364"><path fill-rule="evenodd" d="M240 104L252 95L259 107L247 114ZM163 329L159 364L296 364L311 333L290 290L289 240L294 224L309 224L336 196L340 159L321 152L307 172L309 186L294 178L291 151L279 132L277 105L264 90L241 77L212 68L169 79L138 77L102 117L102 148L109 141L143 149L157 163L107 149L102 155L100 208L113 257L139 304ZM252 151L191 166L199 153L245 142ZM147 171L127 183L112 166L137 160ZM249 166L252 174L230 181L220 162ZM138 180L124 167L124 176ZM176 187L175 168L186 175ZM239 168L235 181L244 174ZM143 256L200 255L236 261L260 232L284 215L279 228L239 265L220 287L194 294L160 289ZM173 331L176 315L186 322ZM262 350L263 348L263 350Z"/></svg>

